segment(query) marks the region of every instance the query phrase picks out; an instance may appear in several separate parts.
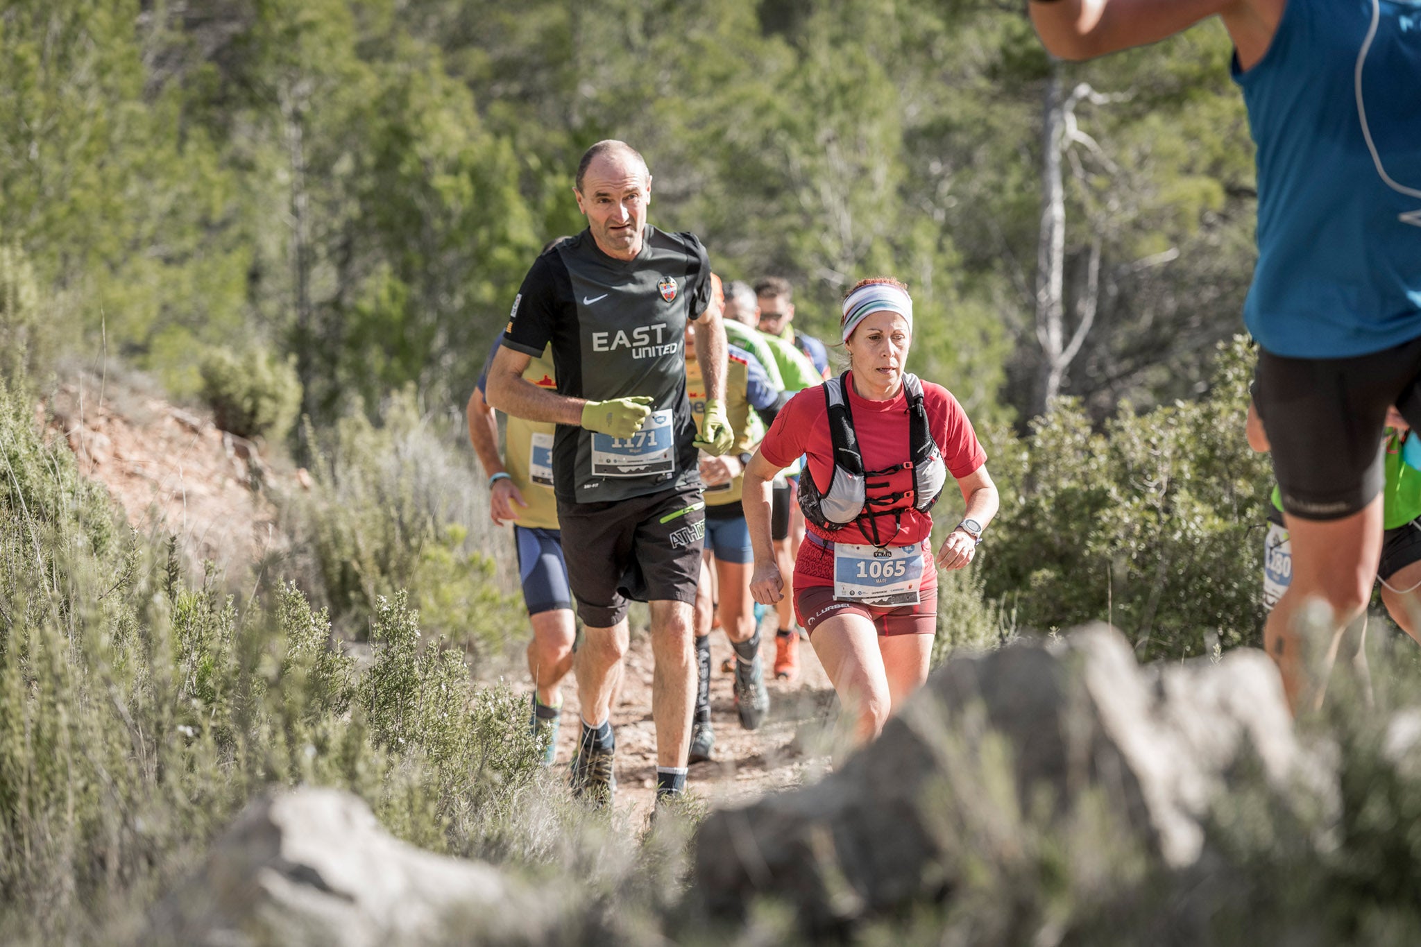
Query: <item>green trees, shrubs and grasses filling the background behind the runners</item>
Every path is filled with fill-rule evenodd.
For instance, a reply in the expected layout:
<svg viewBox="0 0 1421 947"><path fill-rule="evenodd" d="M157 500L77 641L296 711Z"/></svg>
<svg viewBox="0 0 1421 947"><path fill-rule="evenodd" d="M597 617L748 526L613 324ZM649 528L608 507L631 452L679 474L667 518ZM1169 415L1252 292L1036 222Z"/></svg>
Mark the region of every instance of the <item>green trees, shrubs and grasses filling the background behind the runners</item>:
<svg viewBox="0 0 1421 947"><path fill-rule="evenodd" d="M462 406L533 254L583 226L573 169L608 136L647 156L654 223L701 234L726 278L790 278L816 335L860 277L909 284L912 366L966 406L1005 500L979 565L944 582L938 659L1097 618L1141 657L1258 643L1269 481L1232 341L1256 195L1228 57L1211 21L1056 62L1020 4L986 0L7 3L0 940L111 940L247 798L300 781L429 848L539 877L594 865L597 910L675 900L679 856L567 808L507 737L522 703L472 683L524 618ZM1077 133L1046 138L1081 84ZM1047 400L1053 148L1066 332L1093 317ZM240 406L311 469L286 575L230 595L121 528L31 430L30 393L77 359ZM1347 787L1357 814L1412 819L1415 781L1384 789ZM1316 930L1414 930L1390 903L1353 910L1383 867L1414 873L1370 815L1334 862L1260 818L1225 852L1343 890L1306 903ZM995 883L946 920L993 929L1022 897ZM1279 917L1306 900L1258 885ZM909 927L941 943L939 920Z"/></svg>

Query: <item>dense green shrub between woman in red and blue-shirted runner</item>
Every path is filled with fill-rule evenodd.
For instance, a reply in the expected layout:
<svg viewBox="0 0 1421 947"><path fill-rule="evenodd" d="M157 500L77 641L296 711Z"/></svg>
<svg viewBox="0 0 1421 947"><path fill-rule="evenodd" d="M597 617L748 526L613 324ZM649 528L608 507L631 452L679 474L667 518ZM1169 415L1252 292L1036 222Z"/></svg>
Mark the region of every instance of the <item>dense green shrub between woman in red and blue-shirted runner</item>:
<svg viewBox="0 0 1421 947"><path fill-rule="evenodd" d="M1258 643L1272 474L1243 439L1250 371L1239 339L1206 399L1127 405L1100 433L1067 400L998 444L986 595L1042 630L1110 620L1144 660Z"/></svg>

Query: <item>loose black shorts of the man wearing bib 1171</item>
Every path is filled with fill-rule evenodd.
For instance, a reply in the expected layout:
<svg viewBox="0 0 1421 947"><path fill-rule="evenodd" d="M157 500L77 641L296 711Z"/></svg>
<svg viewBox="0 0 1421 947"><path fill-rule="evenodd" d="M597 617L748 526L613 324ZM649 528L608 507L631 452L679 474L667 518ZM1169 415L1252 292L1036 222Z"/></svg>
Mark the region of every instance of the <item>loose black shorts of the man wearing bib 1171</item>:
<svg viewBox="0 0 1421 947"><path fill-rule="evenodd" d="M699 488L607 503L557 501L567 581L591 628L627 616L627 601L696 601L705 504Z"/></svg>

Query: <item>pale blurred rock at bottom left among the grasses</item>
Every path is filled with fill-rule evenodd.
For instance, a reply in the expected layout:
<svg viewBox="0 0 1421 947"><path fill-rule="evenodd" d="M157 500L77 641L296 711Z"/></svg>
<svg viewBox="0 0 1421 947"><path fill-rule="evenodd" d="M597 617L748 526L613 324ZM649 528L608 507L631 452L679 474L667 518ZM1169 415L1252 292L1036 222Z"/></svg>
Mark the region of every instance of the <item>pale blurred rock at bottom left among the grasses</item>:
<svg viewBox="0 0 1421 947"><path fill-rule="evenodd" d="M151 917L149 943L365 947L539 943L547 919L500 872L388 835L357 797L297 789L249 805L206 863Z"/></svg>

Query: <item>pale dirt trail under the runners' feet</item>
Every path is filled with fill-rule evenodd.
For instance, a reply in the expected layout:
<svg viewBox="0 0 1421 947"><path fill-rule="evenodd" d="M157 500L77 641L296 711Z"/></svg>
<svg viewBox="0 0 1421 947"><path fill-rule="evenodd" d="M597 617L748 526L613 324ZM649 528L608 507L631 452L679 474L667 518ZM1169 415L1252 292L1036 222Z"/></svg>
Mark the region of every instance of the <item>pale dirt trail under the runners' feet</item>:
<svg viewBox="0 0 1421 947"><path fill-rule="evenodd" d="M772 679L774 623L762 625L760 657L770 689L770 716L759 730L740 727L732 693L733 673L720 664L732 655L726 636L710 632L710 721L715 726L715 758L691 767L688 787L710 806L750 802L766 792L799 785L828 765L823 751L826 721L834 713L834 691L809 642L800 642L800 676L793 683ZM612 708L617 730L617 802L635 818L651 811L657 787L657 731L651 720L651 640L632 639L627 655L627 680ZM563 687L563 726L557 765L567 771L580 727L577 689L571 676Z"/></svg>

